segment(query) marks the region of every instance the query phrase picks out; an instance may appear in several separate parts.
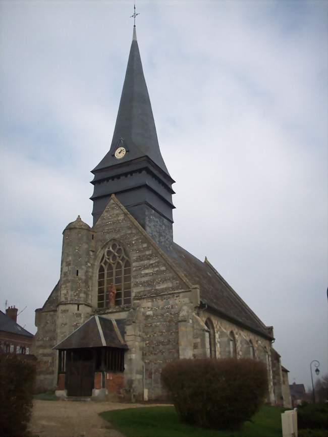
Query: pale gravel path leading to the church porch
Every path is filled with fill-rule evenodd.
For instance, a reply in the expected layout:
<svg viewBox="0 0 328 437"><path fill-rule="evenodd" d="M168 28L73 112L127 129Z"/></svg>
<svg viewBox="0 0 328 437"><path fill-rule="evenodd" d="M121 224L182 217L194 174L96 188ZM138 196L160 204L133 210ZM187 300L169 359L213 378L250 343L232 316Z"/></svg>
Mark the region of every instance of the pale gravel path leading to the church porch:
<svg viewBox="0 0 328 437"><path fill-rule="evenodd" d="M33 437L124 437L98 413L145 406L115 402L34 400L30 429Z"/></svg>

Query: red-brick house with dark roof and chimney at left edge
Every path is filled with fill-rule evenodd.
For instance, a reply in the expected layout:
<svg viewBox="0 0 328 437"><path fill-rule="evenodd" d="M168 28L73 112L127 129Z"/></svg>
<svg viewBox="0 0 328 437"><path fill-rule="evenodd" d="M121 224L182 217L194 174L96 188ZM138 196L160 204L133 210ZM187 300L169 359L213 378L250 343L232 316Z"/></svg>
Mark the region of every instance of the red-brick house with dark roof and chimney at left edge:
<svg viewBox="0 0 328 437"><path fill-rule="evenodd" d="M0 351L28 355L34 336L17 323L17 312L15 306L0 311Z"/></svg>

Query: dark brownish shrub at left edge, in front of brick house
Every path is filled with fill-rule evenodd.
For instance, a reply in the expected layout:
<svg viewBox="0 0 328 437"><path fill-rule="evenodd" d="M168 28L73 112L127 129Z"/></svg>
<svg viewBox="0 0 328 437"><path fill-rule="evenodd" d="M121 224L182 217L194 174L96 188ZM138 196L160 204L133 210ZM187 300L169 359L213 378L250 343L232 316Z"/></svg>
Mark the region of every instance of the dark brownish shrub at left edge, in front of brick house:
<svg viewBox="0 0 328 437"><path fill-rule="evenodd" d="M0 354L0 429L6 437L27 435L35 366L14 354Z"/></svg>

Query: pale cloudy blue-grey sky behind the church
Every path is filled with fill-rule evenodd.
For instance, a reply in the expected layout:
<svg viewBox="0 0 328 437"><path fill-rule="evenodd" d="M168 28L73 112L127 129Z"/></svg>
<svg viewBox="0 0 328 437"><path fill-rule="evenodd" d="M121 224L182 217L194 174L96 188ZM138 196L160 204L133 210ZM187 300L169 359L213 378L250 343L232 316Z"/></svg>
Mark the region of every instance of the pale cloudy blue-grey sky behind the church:
<svg viewBox="0 0 328 437"><path fill-rule="evenodd" d="M137 2L138 43L174 189L175 241L267 324L290 382L327 366L326 1ZM34 310L62 231L91 224L133 2L0 2L0 309Z"/></svg>

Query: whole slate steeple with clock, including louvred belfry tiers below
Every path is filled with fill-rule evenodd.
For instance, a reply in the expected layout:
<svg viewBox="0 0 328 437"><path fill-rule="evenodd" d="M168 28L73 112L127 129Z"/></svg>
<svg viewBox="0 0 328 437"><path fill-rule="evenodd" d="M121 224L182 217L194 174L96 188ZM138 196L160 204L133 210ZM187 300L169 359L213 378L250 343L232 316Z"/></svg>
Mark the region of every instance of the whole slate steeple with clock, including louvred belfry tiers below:
<svg viewBox="0 0 328 437"><path fill-rule="evenodd" d="M159 150L135 26L111 147L92 173L94 223L115 194L156 241L154 224L170 245L174 180Z"/></svg>

